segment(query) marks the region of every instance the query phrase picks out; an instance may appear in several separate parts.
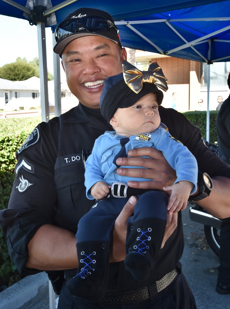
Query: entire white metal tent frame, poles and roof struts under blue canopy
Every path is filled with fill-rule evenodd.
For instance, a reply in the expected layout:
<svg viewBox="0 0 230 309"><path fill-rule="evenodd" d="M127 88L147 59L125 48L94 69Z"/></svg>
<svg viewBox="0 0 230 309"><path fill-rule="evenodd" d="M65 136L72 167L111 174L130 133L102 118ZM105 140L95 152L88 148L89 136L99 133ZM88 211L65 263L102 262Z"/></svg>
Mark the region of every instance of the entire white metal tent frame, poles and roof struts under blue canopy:
<svg viewBox="0 0 230 309"><path fill-rule="evenodd" d="M13 0L2 0L12 6L15 6L19 10L30 14L31 16L34 15L33 11L27 9L26 7L14 2ZM42 17L46 17L55 11L59 10L60 8L63 8L65 6L68 6L69 4L76 2L78 0L66 0L56 6L53 6L47 10L44 10L42 13ZM40 0L37 0L40 4ZM227 59L228 57L223 57L219 59L215 59L210 61L210 58L207 59L203 55L201 55L196 49L195 45L202 44L202 43L209 43L209 52L208 56L211 54L211 47L212 47L212 41L209 39L211 36L217 35L221 32L224 32L228 29L230 29L230 26L221 28L215 32L212 32L210 34L207 34L203 37L200 37L199 39L193 40L188 42L178 31L172 26L172 23L174 22L188 22L188 21L220 21L220 20L227 20L230 21L230 17L208 17L208 18L185 18L185 19L156 19L156 20L130 20L130 21L117 21L115 22L116 25L126 25L130 30L135 32L138 36L140 36L142 39L146 40L149 44L154 46L159 53L170 55L178 50L186 49L188 47L192 48L195 53L197 53L204 62L207 62L207 64L211 64L216 61L221 61L224 59ZM182 44L181 46L178 46L175 49L171 49L168 51L163 51L159 46L151 42L146 36L144 36L141 32L136 30L132 25L135 24L148 24L148 23L165 23L174 33L182 39L185 44ZM48 78L47 78L47 60L46 60L46 39L45 39L45 23L44 22L37 22L37 34L38 34L38 49L39 49L39 61L40 61L40 68L39 68L39 74L40 74L40 88L41 88L41 111L42 111L42 121L48 121L49 120L49 102L48 102ZM213 40L215 41L222 41L222 42L228 42L229 40ZM54 35L53 35L53 46L55 45ZM53 55L53 64L54 64L54 89L55 89L55 115L60 116L61 115L61 79L60 79L60 59L57 54ZM209 142L209 91L210 91L210 66L208 66L207 70L207 128L206 128L206 139Z"/></svg>

